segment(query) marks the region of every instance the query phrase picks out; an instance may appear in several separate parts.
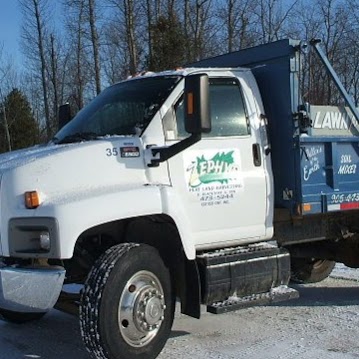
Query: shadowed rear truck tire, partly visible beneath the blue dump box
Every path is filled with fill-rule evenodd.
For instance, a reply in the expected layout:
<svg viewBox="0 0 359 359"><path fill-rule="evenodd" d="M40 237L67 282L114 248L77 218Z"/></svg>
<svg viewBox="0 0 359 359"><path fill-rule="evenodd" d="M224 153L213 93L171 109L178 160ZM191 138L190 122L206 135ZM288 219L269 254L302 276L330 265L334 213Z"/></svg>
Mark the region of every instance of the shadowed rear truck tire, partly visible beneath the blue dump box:
<svg viewBox="0 0 359 359"><path fill-rule="evenodd" d="M291 258L291 281L317 283L329 277L335 261L327 259Z"/></svg>

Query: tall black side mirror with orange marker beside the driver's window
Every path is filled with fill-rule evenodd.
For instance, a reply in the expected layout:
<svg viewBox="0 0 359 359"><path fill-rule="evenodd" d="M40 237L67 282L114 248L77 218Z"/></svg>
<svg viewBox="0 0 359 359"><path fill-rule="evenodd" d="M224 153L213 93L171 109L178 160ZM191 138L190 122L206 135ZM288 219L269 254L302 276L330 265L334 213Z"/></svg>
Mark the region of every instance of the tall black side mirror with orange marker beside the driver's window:
<svg viewBox="0 0 359 359"><path fill-rule="evenodd" d="M209 80L206 74L185 78L184 99L186 131L192 135L211 132Z"/></svg>

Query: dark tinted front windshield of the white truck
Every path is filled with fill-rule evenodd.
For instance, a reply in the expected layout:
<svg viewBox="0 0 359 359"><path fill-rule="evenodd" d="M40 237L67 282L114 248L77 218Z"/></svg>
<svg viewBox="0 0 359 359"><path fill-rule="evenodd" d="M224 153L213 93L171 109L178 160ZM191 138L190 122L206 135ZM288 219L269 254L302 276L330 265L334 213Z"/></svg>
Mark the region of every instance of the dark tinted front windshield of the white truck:
<svg viewBox="0 0 359 359"><path fill-rule="evenodd" d="M124 81L101 92L54 138L56 143L106 135L141 134L171 93L180 76Z"/></svg>

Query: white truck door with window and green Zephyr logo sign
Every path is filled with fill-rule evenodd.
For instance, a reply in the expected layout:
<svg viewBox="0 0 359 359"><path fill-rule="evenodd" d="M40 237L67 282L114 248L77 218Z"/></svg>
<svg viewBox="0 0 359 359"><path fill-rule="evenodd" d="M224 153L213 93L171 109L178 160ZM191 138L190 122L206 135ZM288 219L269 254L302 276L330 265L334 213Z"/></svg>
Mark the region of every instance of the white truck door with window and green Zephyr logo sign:
<svg viewBox="0 0 359 359"><path fill-rule="evenodd" d="M266 176L251 123L258 119L254 105L248 108L233 77L210 79L210 102L212 131L169 160L170 181L181 196L197 247L265 235ZM182 97L173 117L172 132L165 132L187 137Z"/></svg>

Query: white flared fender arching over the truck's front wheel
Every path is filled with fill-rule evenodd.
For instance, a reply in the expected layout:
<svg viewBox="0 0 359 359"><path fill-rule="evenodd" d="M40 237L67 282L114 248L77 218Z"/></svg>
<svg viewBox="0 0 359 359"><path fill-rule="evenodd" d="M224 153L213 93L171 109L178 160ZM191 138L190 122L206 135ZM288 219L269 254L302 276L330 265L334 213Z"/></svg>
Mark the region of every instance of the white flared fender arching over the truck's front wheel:
<svg viewBox="0 0 359 359"><path fill-rule="evenodd" d="M78 237L91 227L119 219L162 213L175 222L187 259L195 259L190 221L176 191L169 186L122 189L54 207L54 217L58 219L60 228L60 256L63 259L71 258Z"/></svg>

